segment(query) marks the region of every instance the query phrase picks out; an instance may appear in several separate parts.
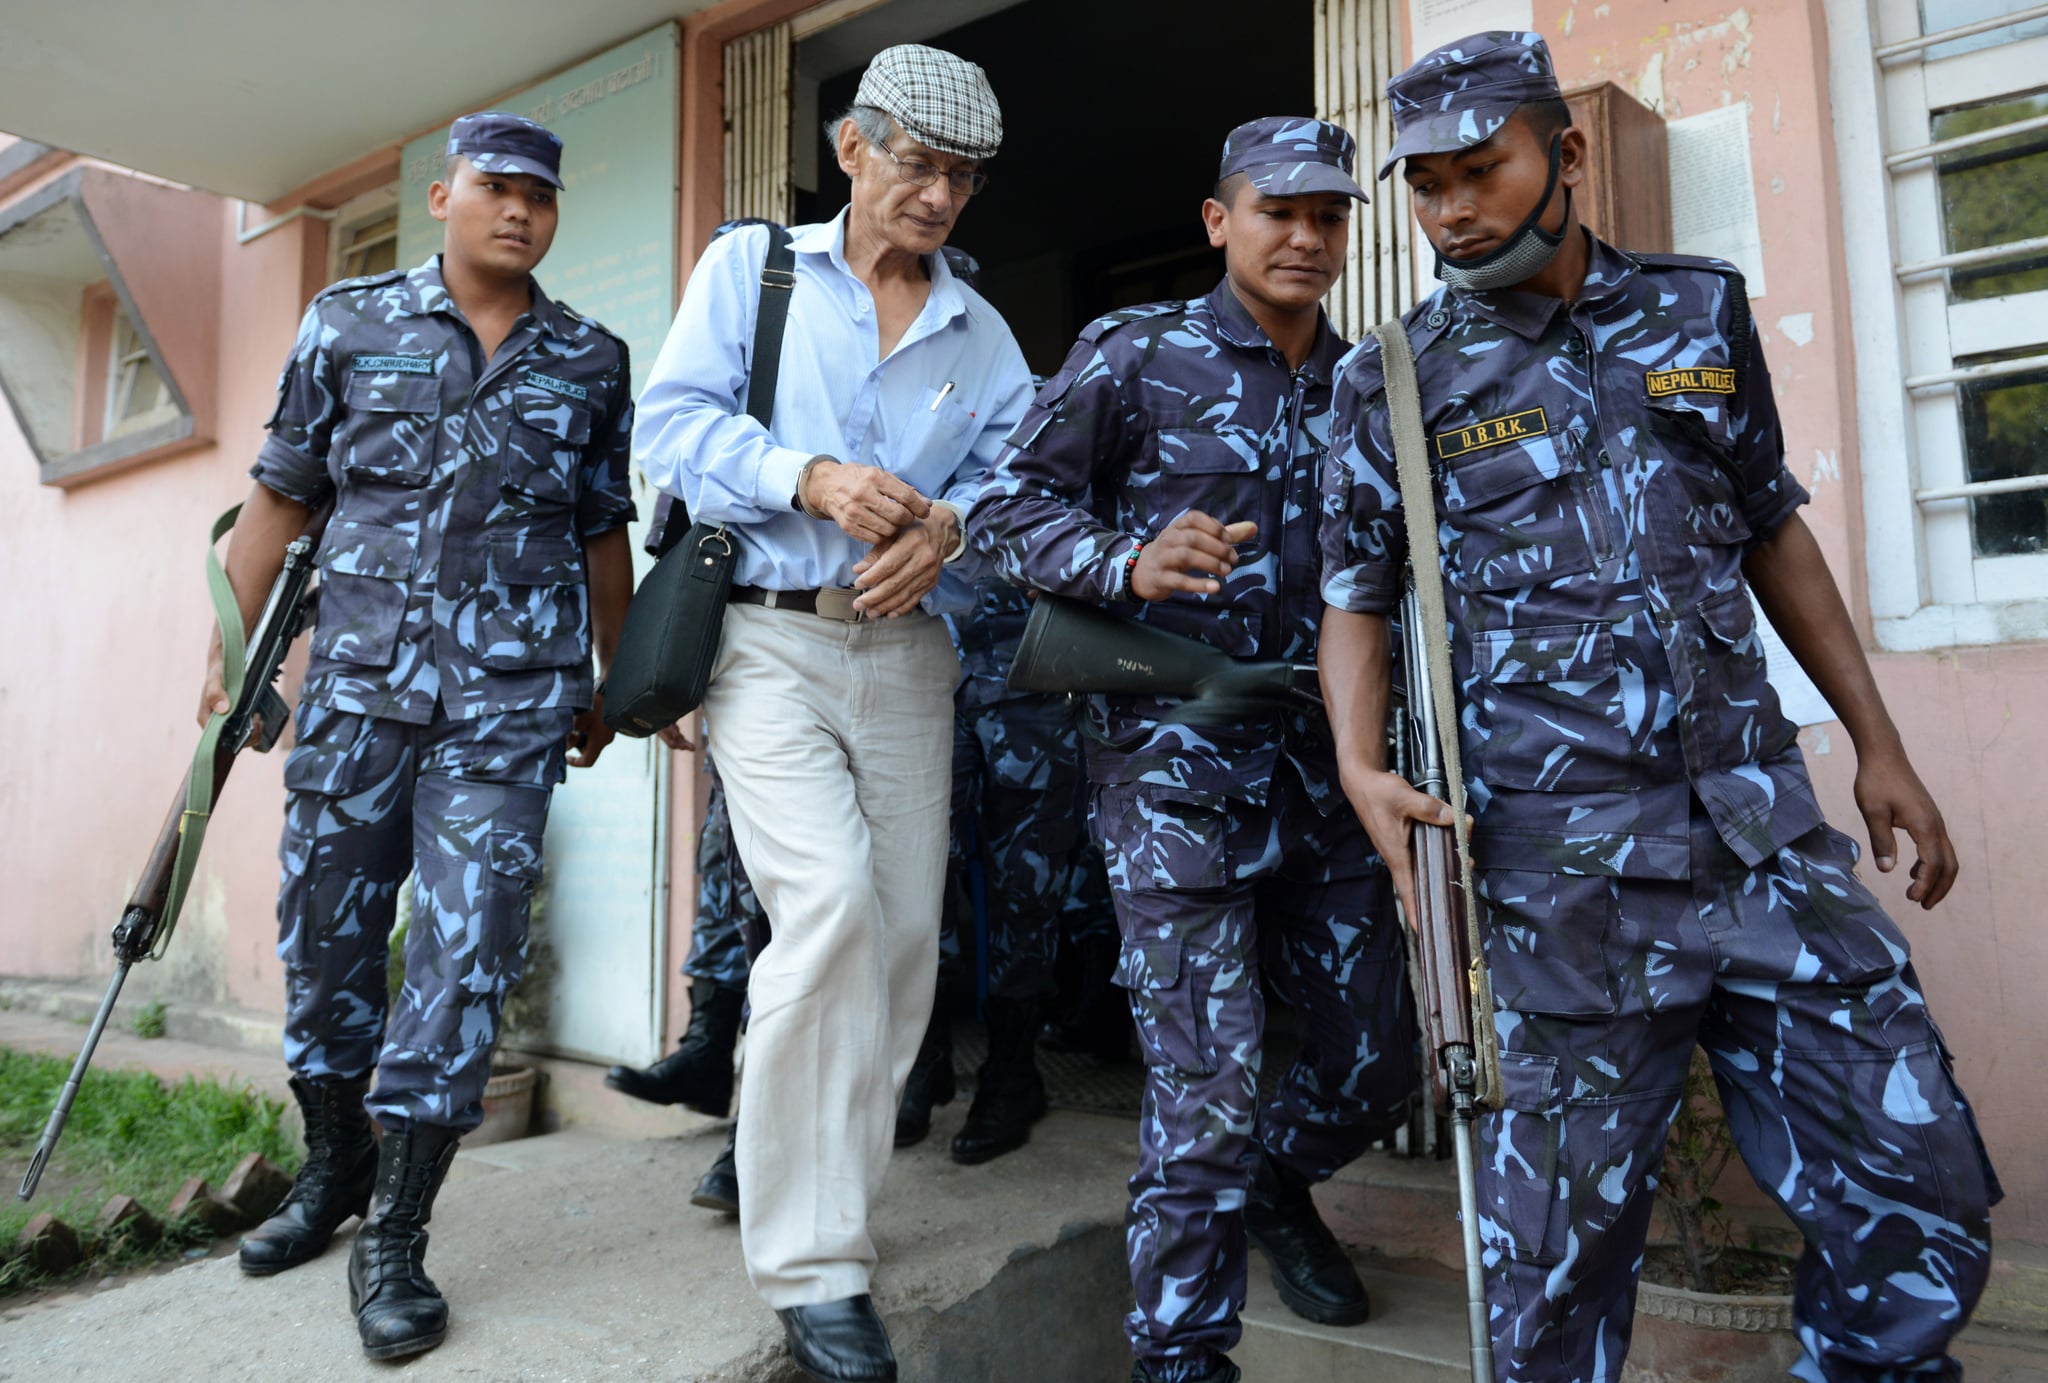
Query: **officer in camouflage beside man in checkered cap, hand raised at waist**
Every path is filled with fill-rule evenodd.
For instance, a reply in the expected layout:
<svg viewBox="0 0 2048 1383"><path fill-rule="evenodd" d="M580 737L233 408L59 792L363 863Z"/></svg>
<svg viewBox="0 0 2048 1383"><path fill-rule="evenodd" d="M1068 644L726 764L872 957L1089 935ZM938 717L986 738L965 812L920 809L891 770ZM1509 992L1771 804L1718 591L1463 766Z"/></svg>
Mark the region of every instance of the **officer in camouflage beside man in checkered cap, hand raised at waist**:
<svg viewBox="0 0 2048 1383"><path fill-rule="evenodd" d="M1237 658L1313 656L1343 354L1319 303L1364 197L1354 148L1311 119L1231 131L1202 205L1227 279L1083 330L975 504L975 543L1008 580ZM1130 1178L1130 1377L1229 1381L1247 1229L1294 1311L1368 1313L1309 1186L1409 1106L1399 922L1321 715L1190 723L1171 701L1096 697L1085 734L1122 926L1116 983L1151 1067ZM1300 1059L1264 1106L1262 975L1300 1026Z"/></svg>

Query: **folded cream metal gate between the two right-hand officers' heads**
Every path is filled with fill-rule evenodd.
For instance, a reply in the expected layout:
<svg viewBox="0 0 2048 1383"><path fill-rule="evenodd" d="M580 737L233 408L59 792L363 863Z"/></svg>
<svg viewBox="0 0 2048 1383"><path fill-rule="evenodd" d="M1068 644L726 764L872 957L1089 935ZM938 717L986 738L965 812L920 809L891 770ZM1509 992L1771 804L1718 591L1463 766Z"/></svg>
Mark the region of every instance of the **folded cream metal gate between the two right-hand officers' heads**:
<svg viewBox="0 0 2048 1383"><path fill-rule="evenodd" d="M1389 0L1317 0L1315 113L1358 139L1358 182L1372 195L1372 205L1352 221L1343 277L1327 303L1329 322L1346 340L1415 303L1411 258L1419 232L1407 184L1399 176L1372 182L1395 139L1382 92L1403 66L1401 16Z"/></svg>

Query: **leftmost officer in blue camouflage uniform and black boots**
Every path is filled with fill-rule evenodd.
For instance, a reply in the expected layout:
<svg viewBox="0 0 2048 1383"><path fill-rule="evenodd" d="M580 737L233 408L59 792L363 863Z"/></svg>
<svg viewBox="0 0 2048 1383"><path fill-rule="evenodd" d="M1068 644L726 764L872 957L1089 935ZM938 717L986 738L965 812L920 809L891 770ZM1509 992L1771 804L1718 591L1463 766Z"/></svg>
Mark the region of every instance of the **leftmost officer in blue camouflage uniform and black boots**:
<svg viewBox="0 0 2048 1383"><path fill-rule="evenodd" d="M561 141L526 119L455 123L430 191L442 254L313 299L227 553L248 621L287 541L332 506L279 893L307 1160L242 1266L293 1268L362 1215L348 1289L373 1358L446 1332L426 1221L483 1119L549 795L610 740L590 654L594 637L608 658L633 586L633 397L625 342L530 277L559 162ZM203 711L223 705L215 641ZM406 983L387 1014L408 873Z"/></svg>

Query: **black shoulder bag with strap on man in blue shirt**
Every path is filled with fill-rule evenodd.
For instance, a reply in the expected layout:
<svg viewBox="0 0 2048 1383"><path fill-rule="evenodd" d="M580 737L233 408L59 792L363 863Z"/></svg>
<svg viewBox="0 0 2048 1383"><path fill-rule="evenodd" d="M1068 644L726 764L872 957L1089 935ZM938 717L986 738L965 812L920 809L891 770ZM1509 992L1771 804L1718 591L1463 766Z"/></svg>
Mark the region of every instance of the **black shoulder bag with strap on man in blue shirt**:
<svg viewBox="0 0 2048 1383"><path fill-rule="evenodd" d="M748 379L748 414L764 428L774 414L782 328L797 287L797 252L788 232L772 221L766 225L768 260L762 264ZM680 500L662 496L653 527L657 561L633 592L604 676L604 723L633 738L674 725L702 705L733 590L735 547L725 525L690 522Z"/></svg>

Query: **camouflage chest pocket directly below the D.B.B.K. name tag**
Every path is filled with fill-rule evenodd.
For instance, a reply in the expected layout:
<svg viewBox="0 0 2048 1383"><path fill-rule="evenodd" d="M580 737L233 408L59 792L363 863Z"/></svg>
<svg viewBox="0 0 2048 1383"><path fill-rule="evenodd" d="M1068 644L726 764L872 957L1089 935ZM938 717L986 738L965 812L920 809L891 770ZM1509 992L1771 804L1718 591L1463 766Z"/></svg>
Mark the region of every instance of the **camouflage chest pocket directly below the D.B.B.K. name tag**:
<svg viewBox="0 0 2048 1383"><path fill-rule="evenodd" d="M1516 590L1597 565L1599 516L1567 434L1505 443L1442 465L1444 555L1466 590Z"/></svg>

